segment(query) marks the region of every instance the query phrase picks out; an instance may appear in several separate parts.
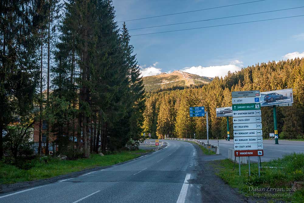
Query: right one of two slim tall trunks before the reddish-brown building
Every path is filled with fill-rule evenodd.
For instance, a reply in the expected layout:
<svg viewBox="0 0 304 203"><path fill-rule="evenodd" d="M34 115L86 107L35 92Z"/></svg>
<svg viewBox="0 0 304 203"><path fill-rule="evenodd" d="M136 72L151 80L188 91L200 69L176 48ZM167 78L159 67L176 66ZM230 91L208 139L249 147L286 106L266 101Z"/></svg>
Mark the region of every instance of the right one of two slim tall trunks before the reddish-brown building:
<svg viewBox="0 0 304 203"><path fill-rule="evenodd" d="M50 109L50 14L47 31L47 109ZM47 143L45 155L49 155L50 118L47 118ZM54 149L53 149L54 150Z"/></svg>

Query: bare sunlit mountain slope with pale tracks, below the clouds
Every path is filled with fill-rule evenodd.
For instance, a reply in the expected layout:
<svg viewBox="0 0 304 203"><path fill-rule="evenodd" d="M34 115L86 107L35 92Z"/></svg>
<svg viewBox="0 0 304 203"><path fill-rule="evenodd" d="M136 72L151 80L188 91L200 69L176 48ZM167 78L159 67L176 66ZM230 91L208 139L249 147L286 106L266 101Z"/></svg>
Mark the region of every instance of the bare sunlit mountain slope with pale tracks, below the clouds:
<svg viewBox="0 0 304 203"><path fill-rule="evenodd" d="M172 73L161 73L143 77L143 84L147 91L153 89L169 88L174 86L190 86L207 84L213 78L190 74L182 71L174 71Z"/></svg>

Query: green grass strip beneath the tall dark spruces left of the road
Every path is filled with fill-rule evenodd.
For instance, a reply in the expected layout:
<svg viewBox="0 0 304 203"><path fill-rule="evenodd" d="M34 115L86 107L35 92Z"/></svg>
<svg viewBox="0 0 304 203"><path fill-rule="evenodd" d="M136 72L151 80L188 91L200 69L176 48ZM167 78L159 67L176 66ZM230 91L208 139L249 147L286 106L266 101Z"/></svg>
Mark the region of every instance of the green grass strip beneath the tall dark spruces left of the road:
<svg viewBox="0 0 304 203"><path fill-rule="evenodd" d="M39 161L39 159L33 159L31 161L33 167L29 170L22 170L16 166L0 163L0 184L39 180L98 166L110 166L134 159L145 152L148 151L140 149L130 152L117 152L116 154L105 156L92 154L89 159L81 158L77 160L59 160L51 158L47 163Z"/></svg>

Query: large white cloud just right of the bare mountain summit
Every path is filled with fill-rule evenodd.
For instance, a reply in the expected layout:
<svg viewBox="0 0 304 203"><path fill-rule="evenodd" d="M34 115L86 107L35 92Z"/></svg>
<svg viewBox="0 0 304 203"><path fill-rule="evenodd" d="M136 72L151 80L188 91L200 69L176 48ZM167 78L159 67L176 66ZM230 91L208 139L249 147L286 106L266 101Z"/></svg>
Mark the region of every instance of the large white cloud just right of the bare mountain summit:
<svg viewBox="0 0 304 203"><path fill-rule="evenodd" d="M224 77L228 71L235 72L240 71L243 68L243 62L239 60L230 61L229 65L218 65L218 66L192 66L183 69L184 72L196 74L200 76L212 77L215 76Z"/></svg>

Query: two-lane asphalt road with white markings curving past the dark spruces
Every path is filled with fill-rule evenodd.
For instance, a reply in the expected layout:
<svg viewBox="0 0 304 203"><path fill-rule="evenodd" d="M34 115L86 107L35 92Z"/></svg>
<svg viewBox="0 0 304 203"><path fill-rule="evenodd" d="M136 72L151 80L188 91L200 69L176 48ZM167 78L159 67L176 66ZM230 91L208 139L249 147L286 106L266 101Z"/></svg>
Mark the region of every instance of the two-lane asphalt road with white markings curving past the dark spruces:
<svg viewBox="0 0 304 203"><path fill-rule="evenodd" d="M1 194L0 202L202 202L200 184L192 183L196 147L166 142L162 150L104 170Z"/></svg>

